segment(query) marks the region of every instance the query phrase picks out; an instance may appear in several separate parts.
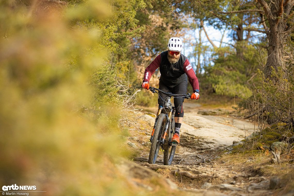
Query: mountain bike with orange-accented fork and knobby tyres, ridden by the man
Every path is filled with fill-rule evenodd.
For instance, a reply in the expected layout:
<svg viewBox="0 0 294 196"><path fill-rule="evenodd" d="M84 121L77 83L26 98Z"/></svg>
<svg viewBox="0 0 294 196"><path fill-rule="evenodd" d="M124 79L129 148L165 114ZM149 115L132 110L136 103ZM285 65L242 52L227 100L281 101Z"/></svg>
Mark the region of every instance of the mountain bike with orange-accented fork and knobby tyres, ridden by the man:
<svg viewBox="0 0 294 196"><path fill-rule="evenodd" d="M163 94L168 95L163 100L163 107L158 108L158 112L156 115L155 123L153 126L152 134L151 134L151 148L149 153L148 163L154 164L156 163L156 159L158 157L158 152L161 147L163 150L163 164L171 165L173 161L173 157L176 152L177 143L171 142L173 134L175 133L175 112L176 109L171 103L172 98L190 98L191 94L187 95L183 94L173 94L169 92L161 91L158 88L149 87L149 90L152 93L162 92ZM159 96L159 94L158 94Z"/></svg>

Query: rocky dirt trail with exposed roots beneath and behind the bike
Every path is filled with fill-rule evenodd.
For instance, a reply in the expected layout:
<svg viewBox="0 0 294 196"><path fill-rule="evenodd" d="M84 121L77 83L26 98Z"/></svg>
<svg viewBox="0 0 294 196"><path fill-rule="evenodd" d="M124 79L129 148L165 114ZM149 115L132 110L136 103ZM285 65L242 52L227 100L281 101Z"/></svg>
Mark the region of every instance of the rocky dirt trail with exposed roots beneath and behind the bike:
<svg viewBox="0 0 294 196"><path fill-rule="evenodd" d="M233 141L243 140L245 135L254 132L257 125L229 115L199 115L197 110L193 110L195 105L190 103L185 106L181 142L172 165L163 165L162 152L158 155L157 164L147 163L149 152L134 158L134 161L156 170L192 195L272 195L270 179L260 176L258 172L241 170L217 161L220 150L232 145ZM154 119L150 119L149 124ZM147 142L143 144L148 145Z"/></svg>

